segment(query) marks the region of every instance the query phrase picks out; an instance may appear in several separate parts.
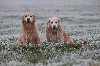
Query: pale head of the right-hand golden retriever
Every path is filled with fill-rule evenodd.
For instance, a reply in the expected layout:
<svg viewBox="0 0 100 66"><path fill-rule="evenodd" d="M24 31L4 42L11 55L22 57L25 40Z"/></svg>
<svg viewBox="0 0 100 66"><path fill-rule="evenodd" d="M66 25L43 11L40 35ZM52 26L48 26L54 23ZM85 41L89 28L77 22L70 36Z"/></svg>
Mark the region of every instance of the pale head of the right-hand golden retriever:
<svg viewBox="0 0 100 66"><path fill-rule="evenodd" d="M58 17L52 17L48 19L47 27L50 28L53 31L56 31L57 28L60 26L60 18Z"/></svg>

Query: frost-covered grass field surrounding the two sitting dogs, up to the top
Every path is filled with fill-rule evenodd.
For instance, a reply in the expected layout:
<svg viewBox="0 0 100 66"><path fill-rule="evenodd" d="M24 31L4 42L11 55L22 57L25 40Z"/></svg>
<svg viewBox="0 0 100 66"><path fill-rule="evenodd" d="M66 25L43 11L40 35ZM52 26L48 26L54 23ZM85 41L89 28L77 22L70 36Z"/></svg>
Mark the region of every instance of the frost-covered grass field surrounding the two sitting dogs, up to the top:
<svg viewBox="0 0 100 66"><path fill-rule="evenodd" d="M36 14L42 41L47 19L58 16L74 40L84 39L87 44L19 46L21 15L28 11ZM1 0L0 66L100 66L100 1Z"/></svg>

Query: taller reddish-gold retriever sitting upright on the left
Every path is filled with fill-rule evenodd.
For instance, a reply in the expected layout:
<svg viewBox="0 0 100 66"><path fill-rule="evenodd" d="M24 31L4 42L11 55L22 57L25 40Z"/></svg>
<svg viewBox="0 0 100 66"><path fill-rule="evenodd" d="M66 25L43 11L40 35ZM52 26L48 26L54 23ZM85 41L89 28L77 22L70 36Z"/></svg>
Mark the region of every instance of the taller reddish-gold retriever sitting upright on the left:
<svg viewBox="0 0 100 66"><path fill-rule="evenodd" d="M40 43L38 27L34 14L28 12L22 16L21 35L17 39L17 42L21 45L27 45L29 43Z"/></svg>

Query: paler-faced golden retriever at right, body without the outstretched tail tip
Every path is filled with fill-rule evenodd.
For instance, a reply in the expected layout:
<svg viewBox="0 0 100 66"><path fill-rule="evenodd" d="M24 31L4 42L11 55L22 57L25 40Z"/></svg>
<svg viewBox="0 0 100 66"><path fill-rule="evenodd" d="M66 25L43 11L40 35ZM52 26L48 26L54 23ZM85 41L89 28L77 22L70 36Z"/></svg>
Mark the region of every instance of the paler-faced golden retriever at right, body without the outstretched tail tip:
<svg viewBox="0 0 100 66"><path fill-rule="evenodd" d="M65 33L60 24L60 18L52 17L48 19L46 24L46 38L48 42L56 43L69 43L72 44L73 40Z"/></svg>

